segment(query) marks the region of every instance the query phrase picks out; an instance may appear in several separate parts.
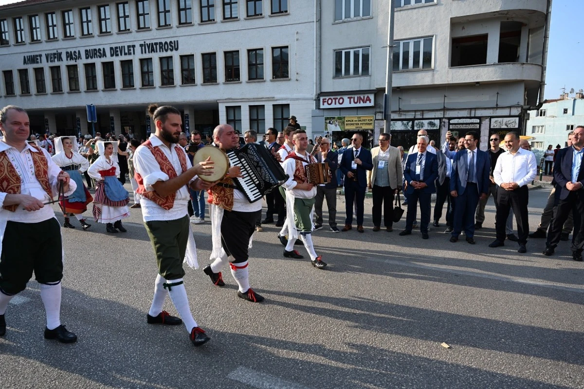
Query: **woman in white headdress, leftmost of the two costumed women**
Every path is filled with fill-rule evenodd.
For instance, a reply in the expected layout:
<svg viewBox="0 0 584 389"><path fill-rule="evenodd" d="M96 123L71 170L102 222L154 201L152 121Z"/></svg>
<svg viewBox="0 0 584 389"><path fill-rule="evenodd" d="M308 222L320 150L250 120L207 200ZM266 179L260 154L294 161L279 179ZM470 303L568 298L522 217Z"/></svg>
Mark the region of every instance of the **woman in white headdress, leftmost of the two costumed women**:
<svg viewBox="0 0 584 389"><path fill-rule="evenodd" d="M87 211L87 205L93 201L93 198L83 184L83 178L81 177L81 174L89 169L89 161L77 152L78 149L75 136L59 136L55 138L56 154L52 158L53 162L61 167L63 171L67 171L71 180L77 184L75 192L68 199L60 202L65 216L63 227L75 228L74 225L69 223L69 216L75 215L79 223L81 223L81 227L86 230L91 227L91 224L85 221L83 213Z"/></svg>

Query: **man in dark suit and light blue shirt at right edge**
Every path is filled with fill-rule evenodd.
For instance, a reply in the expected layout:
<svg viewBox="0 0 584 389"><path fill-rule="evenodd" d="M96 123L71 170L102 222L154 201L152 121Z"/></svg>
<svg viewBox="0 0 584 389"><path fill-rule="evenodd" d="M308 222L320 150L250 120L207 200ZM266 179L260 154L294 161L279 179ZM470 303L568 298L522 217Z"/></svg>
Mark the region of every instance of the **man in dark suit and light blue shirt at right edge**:
<svg viewBox="0 0 584 389"><path fill-rule="evenodd" d="M582 261L584 248L584 170L582 170L582 155L584 155L584 127L579 125L574 129L572 147L559 150L555 156L554 180L556 183L556 199L559 199L558 209L551 222L545 243L545 255L554 254L555 247L561 239L562 227L573 213L574 232L572 235L572 258Z"/></svg>

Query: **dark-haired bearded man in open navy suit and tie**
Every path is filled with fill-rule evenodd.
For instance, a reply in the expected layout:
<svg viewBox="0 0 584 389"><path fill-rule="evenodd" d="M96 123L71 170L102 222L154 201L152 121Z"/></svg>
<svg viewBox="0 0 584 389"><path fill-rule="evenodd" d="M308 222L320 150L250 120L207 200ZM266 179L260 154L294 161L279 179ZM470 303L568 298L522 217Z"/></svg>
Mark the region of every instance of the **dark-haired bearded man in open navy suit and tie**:
<svg viewBox="0 0 584 389"><path fill-rule="evenodd" d="M479 199L488 196L489 174L491 173L491 159L478 149L479 135L476 131L469 131L464 136L465 149L451 153L452 171L450 176L450 195L456 198L454 209L454 230L450 241L458 241L458 235L464 229L467 242L475 244L475 211Z"/></svg>

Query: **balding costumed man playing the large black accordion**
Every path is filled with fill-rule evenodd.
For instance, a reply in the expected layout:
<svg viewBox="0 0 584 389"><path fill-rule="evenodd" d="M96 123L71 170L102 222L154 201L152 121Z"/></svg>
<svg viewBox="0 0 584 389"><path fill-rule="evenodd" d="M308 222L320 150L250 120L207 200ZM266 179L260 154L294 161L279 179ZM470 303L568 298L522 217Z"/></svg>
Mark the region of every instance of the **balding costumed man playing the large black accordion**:
<svg viewBox="0 0 584 389"><path fill-rule="evenodd" d="M223 150L239 147L239 136L233 127L221 124L213 131L215 145ZM237 296L253 303L263 297L249 287L248 248L251 247L256 221L262 217L262 202L250 203L244 193L234 185L233 178L242 177L239 166L231 166L227 176L210 189L211 230L213 232L213 263L203 268L211 282L224 286L221 268L229 262L231 275L239 289Z"/></svg>

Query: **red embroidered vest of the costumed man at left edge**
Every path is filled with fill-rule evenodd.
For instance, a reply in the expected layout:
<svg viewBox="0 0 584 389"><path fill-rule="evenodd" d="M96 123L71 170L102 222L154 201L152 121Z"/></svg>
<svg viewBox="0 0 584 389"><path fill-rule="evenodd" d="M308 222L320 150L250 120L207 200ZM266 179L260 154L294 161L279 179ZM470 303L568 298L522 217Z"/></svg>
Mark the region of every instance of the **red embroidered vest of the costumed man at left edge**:
<svg viewBox="0 0 584 389"><path fill-rule="evenodd" d="M30 145L37 152L32 152L30 155L33 160L34 176L39 180L40 186L47 192L48 197L53 199L53 190L48 182L48 164L44 153L36 145ZM20 194L20 176L16 173L16 169L10 162L6 150L0 152L0 192L8 194ZM8 211L14 212L18 205L6 205L2 207Z"/></svg>

